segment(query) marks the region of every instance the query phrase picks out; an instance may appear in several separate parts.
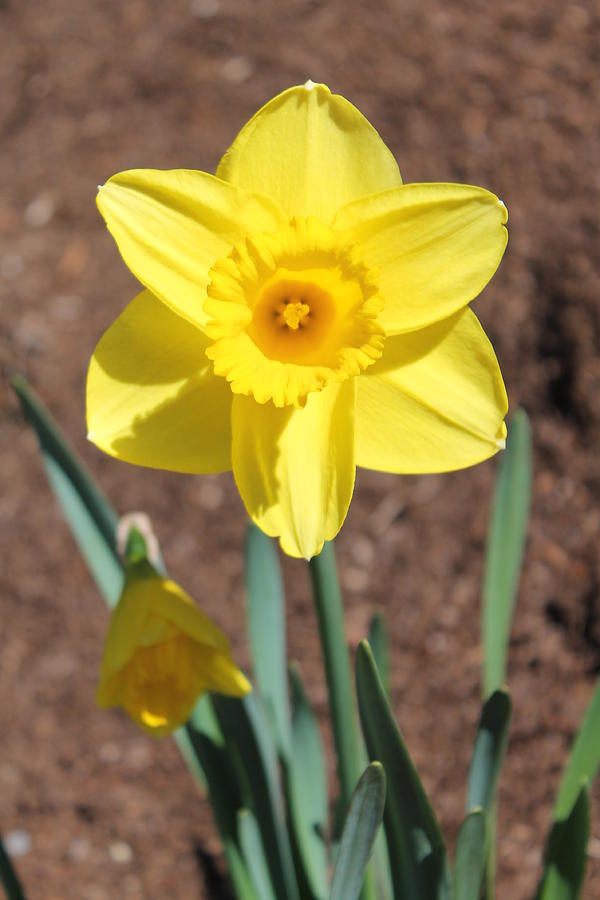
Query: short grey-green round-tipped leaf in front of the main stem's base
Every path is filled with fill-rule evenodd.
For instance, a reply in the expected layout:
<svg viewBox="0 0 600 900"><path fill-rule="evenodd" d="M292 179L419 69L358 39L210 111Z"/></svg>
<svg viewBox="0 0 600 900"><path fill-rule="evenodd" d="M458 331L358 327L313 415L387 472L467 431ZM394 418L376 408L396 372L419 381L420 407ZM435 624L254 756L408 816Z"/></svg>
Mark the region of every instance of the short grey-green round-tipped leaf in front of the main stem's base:
<svg viewBox="0 0 600 900"><path fill-rule="evenodd" d="M350 802L329 900L356 900L359 896L384 805L385 772L381 763L371 763Z"/></svg>

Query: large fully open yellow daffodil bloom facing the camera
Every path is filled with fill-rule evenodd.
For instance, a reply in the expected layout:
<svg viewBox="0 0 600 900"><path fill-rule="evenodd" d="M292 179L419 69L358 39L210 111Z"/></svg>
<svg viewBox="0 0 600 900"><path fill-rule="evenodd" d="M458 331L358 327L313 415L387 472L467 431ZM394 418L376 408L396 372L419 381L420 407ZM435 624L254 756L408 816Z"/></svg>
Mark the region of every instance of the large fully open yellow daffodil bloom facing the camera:
<svg viewBox="0 0 600 900"><path fill-rule="evenodd" d="M468 307L506 209L402 184L375 129L307 82L244 126L216 176L134 170L98 206L146 290L88 376L89 437L138 465L233 469L292 556L339 531L357 465L472 465L504 446L506 393Z"/></svg>

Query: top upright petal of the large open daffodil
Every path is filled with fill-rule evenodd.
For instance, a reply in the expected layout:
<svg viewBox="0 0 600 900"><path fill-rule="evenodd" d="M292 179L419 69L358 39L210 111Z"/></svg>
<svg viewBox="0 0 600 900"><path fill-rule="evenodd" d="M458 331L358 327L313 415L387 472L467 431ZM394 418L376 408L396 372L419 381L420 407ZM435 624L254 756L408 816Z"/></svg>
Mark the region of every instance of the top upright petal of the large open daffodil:
<svg viewBox="0 0 600 900"><path fill-rule="evenodd" d="M263 106L217 175L268 194L290 218L315 216L326 225L356 197L402 183L396 160L362 113L311 81Z"/></svg>

